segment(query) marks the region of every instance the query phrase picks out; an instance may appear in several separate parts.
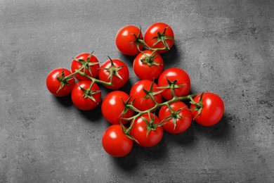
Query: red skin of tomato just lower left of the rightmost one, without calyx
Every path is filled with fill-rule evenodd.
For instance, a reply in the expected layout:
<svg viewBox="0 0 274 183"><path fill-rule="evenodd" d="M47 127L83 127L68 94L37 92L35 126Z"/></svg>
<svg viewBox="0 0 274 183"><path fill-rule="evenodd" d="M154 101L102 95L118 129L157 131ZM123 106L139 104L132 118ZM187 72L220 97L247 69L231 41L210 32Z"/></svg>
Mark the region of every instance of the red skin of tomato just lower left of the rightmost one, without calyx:
<svg viewBox="0 0 274 183"><path fill-rule="evenodd" d="M188 106L186 106L182 101L175 101L170 104L170 107L174 112L181 110L178 115L180 115L182 118L176 118L176 125L174 125L173 118L169 118L169 116L171 116L171 111L169 110L168 106L162 106L159 109L159 120L163 123L166 123L162 126L164 130L171 134L180 134L185 132L185 130L188 130L191 122L193 121L193 116L189 111Z"/></svg>

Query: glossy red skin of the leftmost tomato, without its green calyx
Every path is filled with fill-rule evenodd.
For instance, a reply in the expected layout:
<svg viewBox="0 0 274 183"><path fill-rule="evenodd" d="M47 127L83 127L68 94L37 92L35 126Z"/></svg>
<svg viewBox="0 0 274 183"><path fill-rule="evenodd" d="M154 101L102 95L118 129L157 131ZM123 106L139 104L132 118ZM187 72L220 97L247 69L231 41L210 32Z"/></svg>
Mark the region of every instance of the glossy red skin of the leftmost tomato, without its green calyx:
<svg viewBox="0 0 274 183"><path fill-rule="evenodd" d="M48 88L48 91L51 92L51 94L55 96L67 96L72 92L72 89L75 84L74 78L71 80L68 80L70 84L65 84L62 89L59 89L61 82L57 79L57 77L61 77L62 72L64 72L65 76L68 76L72 74L70 70L66 68L56 68L48 73L46 77L46 87Z"/></svg>

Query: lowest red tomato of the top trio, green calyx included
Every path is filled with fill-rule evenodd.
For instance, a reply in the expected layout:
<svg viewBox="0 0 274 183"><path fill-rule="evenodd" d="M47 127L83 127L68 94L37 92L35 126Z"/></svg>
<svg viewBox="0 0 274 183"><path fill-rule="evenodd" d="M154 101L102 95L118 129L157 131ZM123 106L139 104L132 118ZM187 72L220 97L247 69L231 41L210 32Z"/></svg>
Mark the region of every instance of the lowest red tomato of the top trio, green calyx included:
<svg viewBox="0 0 274 183"><path fill-rule="evenodd" d="M141 80L154 80L159 77L164 69L162 56L145 50L139 53L133 61L133 71Z"/></svg>

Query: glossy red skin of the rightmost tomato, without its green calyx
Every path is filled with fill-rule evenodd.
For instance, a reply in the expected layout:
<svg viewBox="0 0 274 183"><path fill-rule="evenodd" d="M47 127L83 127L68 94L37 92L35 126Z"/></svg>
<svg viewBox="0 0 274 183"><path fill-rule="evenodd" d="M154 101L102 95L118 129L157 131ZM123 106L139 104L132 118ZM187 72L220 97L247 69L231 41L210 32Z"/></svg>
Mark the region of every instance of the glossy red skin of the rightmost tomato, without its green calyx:
<svg viewBox="0 0 274 183"><path fill-rule="evenodd" d="M193 101L199 103L201 94L195 96ZM221 118L225 110L223 100L217 94L211 92L204 92L202 96L202 111L200 115L197 115L197 111L191 111L195 122L203 126L216 125ZM191 104L190 109L194 109L195 105Z"/></svg>

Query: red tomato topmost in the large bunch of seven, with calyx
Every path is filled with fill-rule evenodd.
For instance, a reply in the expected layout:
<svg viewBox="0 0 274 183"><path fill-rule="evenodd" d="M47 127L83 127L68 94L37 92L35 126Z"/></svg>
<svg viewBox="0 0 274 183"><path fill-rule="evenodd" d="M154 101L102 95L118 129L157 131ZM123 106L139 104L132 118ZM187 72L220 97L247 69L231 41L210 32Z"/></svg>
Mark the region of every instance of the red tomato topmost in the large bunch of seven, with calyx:
<svg viewBox="0 0 274 183"><path fill-rule="evenodd" d="M168 68L159 76L158 86L164 89L162 96L166 100L173 98L171 87L174 87L176 96L186 96L190 92L190 77L188 73L181 68Z"/></svg>

